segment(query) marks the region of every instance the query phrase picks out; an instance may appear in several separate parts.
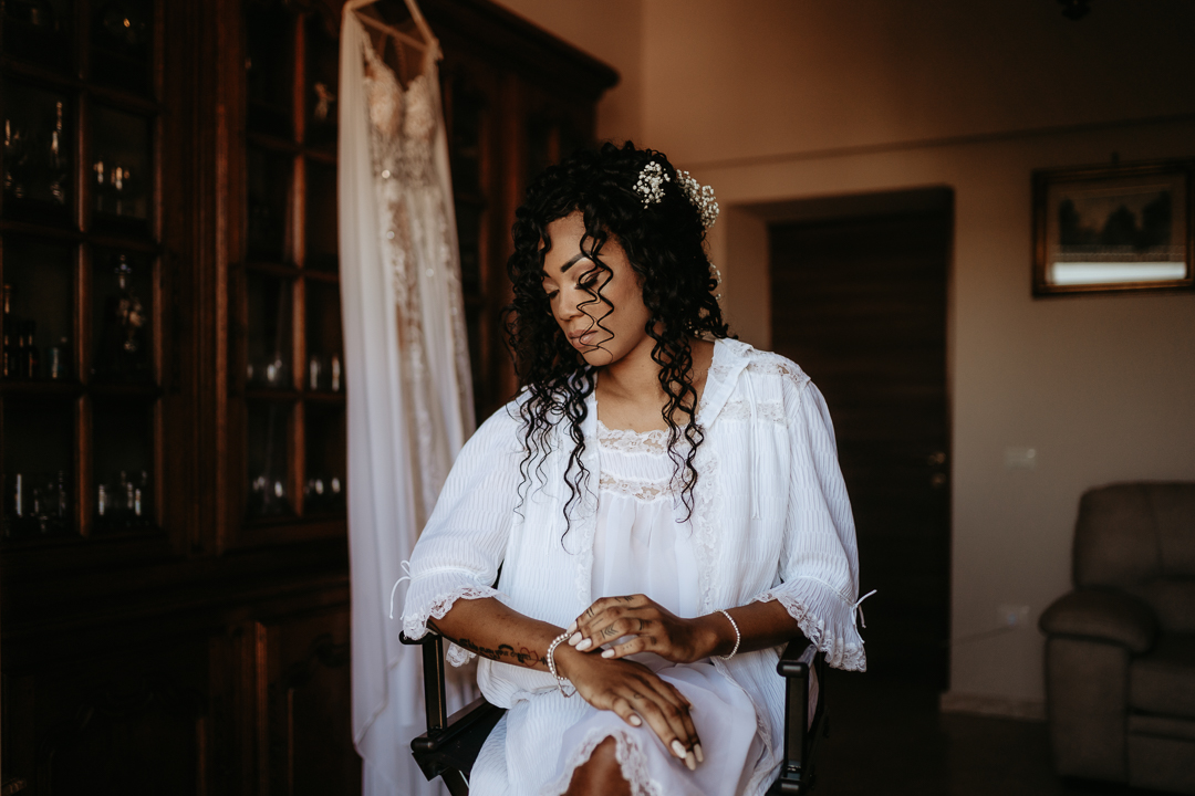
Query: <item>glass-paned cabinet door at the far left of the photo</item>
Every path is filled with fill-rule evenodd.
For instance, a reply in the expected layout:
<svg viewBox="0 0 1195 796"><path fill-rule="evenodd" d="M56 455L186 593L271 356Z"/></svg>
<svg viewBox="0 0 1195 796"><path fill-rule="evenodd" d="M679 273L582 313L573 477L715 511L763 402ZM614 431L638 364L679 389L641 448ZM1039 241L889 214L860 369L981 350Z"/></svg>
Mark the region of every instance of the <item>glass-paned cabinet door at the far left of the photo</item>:
<svg viewBox="0 0 1195 796"><path fill-rule="evenodd" d="M5 0L6 545L160 535L161 0Z"/></svg>

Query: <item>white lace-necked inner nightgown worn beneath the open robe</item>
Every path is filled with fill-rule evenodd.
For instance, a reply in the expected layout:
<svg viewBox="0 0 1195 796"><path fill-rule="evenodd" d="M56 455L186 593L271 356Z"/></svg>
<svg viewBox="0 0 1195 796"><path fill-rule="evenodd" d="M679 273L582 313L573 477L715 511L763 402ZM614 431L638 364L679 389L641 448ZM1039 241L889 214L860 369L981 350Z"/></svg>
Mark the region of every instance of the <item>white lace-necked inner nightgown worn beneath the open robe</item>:
<svg viewBox="0 0 1195 796"><path fill-rule="evenodd" d="M692 527L674 482L668 456L668 432L617 431L598 421L598 526L594 535L593 597L646 594L685 618L700 616L700 591ZM599 653L592 653L599 654ZM617 714L599 710L580 696L569 699L572 723L557 741L554 772L543 794L562 794L574 770L589 759L607 738L615 739L617 757L631 792L650 796L731 796L743 792L764 752L755 708L734 680L709 660L676 665L651 653L631 658L649 666L692 703L691 716L701 739L705 761L691 772L646 723L631 727ZM562 702L563 698L560 699ZM553 699L554 702L554 699ZM517 720L516 720L517 721ZM520 722L522 724L523 722ZM507 728L491 736L504 745ZM559 724L557 724L557 733ZM490 746L488 743L486 746ZM545 746L544 748L552 748ZM496 751L496 749L495 749ZM489 755L485 755L489 757ZM492 758L491 758L492 759ZM485 769L488 766L479 766ZM482 778L488 778L474 769ZM473 790L485 790L474 778Z"/></svg>

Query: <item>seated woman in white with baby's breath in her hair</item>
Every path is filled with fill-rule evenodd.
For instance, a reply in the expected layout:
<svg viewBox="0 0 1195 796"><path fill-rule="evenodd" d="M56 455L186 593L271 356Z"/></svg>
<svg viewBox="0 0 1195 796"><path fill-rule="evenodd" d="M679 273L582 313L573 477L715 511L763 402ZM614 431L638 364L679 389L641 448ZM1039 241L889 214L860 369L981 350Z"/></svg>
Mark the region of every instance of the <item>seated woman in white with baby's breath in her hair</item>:
<svg viewBox="0 0 1195 796"><path fill-rule="evenodd" d="M864 668L854 525L821 394L728 338L709 187L658 152L550 167L514 227L520 395L411 556L409 637L507 708L471 792L762 794L780 646ZM501 581L498 568L502 568Z"/></svg>

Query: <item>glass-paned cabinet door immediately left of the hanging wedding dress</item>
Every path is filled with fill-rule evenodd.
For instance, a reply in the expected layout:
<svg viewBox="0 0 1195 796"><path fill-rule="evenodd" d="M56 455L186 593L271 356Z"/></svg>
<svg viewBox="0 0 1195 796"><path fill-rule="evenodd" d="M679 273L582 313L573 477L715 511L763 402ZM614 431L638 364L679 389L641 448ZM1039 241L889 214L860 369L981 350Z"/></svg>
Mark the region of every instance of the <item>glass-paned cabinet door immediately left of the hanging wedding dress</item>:
<svg viewBox="0 0 1195 796"><path fill-rule="evenodd" d="M244 0L243 272L231 279L237 543L345 532L337 20ZM235 259L235 258L234 258Z"/></svg>

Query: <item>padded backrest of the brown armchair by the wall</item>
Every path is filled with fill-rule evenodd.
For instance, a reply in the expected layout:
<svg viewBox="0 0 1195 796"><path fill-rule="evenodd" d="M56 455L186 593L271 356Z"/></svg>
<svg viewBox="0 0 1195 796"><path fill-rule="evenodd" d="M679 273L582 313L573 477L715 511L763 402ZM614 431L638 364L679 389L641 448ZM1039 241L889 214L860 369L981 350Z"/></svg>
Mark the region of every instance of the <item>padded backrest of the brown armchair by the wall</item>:
<svg viewBox="0 0 1195 796"><path fill-rule="evenodd" d="M1195 482L1087 490L1074 530L1074 585L1145 600L1168 633L1195 633Z"/></svg>

